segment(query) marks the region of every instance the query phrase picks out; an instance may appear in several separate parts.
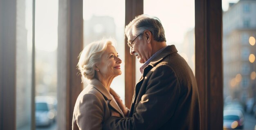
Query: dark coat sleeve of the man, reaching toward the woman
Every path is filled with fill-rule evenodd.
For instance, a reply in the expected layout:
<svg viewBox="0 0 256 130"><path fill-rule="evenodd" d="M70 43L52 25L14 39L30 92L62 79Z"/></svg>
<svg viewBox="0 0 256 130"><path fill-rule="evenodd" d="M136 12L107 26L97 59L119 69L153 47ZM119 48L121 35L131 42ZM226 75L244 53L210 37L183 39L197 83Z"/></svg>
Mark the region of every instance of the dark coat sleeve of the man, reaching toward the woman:
<svg viewBox="0 0 256 130"><path fill-rule="evenodd" d="M110 117L103 130L155 130L170 119L180 95L180 84L170 66L158 66L148 77L146 93L130 118ZM145 77L146 78L146 77Z"/></svg>

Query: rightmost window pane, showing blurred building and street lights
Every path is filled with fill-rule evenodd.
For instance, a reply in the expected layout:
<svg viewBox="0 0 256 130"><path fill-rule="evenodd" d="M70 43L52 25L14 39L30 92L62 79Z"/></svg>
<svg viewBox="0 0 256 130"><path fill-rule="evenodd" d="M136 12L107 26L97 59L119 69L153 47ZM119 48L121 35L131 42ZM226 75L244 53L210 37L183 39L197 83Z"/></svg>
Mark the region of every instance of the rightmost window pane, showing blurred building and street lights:
<svg viewBox="0 0 256 130"><path fill-rule="evenodd" d="M223 97L225 110L235 109L224 117L223 128L231 128L230 121L237 120L246 130L253 130L256 124L256 1L222 0L223 9ZM230 107L231 106L231 107ZM231 118L232 117L232 118ZM244 119L243 119L244 118Z"/></svg>

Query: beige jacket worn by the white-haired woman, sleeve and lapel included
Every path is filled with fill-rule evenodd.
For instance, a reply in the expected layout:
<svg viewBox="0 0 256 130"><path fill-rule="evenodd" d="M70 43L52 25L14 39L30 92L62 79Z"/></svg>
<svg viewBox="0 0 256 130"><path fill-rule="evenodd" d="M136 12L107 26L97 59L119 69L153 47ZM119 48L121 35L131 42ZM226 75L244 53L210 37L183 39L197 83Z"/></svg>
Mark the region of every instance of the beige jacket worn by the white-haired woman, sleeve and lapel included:
<svg viewBox="0 0 256 130"><path fill-rule="evenodd" d="M110 93L114 97L119 97L111 88ZM90 80L88 86L83 89L76 99L72 130L102 130L104 121L111 116L113 110L124 117L110 93L99 80Z"/></svg>

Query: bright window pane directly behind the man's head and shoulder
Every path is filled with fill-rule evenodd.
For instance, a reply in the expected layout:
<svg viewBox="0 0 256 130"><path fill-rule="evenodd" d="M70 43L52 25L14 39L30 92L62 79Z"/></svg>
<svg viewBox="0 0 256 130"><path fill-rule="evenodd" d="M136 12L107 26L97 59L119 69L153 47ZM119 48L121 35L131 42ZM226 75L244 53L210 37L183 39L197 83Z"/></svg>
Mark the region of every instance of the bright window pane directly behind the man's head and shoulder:
<svg viewBox="0 0 256 130"><path fill-rule="evenodd" d="M178 53L188 62L195 74L195 3L194 0L144 0L144 14L153 15L162 22L166 44L174 44ZM136 59L136 81L142 64Z"/></svg>

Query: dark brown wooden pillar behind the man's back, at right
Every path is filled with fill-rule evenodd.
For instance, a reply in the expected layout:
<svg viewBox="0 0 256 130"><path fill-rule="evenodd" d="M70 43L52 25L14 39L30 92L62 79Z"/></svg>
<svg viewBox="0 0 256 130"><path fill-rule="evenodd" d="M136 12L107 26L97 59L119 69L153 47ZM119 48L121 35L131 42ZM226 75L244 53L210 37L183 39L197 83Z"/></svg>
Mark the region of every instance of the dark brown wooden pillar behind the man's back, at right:
<svg viewBox="0 0 256 130"><path fill-rule="evenodd" d="M195 0L195 77L200 98L201 130L222 130L221 0Z"/></svg>

